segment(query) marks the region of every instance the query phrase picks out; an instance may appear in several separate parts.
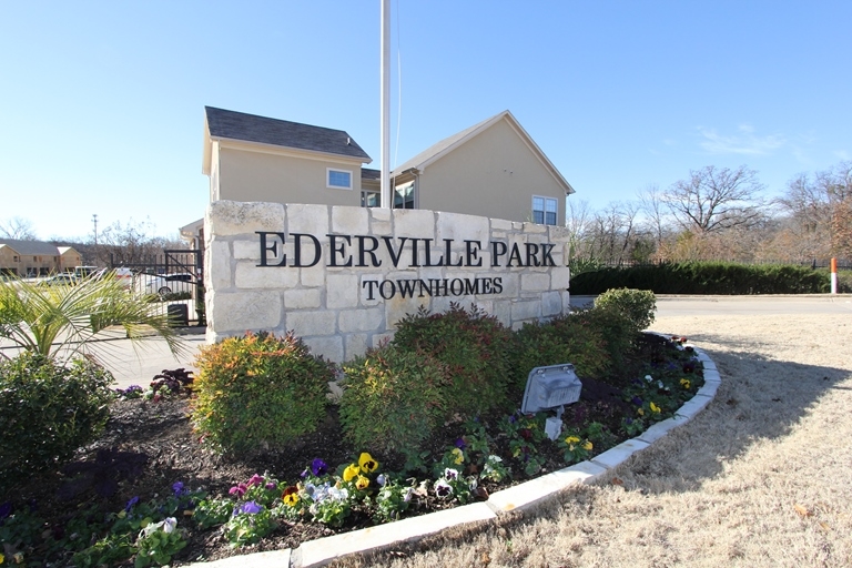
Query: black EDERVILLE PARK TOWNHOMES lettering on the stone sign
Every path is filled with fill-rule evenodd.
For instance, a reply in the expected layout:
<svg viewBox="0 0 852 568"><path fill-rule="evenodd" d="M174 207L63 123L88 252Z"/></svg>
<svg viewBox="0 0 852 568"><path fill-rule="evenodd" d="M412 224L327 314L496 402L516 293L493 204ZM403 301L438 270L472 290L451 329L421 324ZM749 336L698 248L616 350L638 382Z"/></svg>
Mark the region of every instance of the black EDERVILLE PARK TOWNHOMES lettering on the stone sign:
<svg viewBox="0 0 852 568"><path fill-rule="evenodd" d="M442 244L438 244L434 239L326 234L329 253L324 260L323 245L313 234L290 233L293 243L291 257L284 252L287 242L285 233L256 231L256 234L261 247L258 267L310 268L324 261L329 267L377 268L383 265L383 260L378 257L382 252L387 253L394 268L399 268L400 264L403 267L483 266L479 256L484 248L481 241L464 240L463 251L454 254L454 239L442 239ZM514 243L509 246L501 241L490 241L487 246L491 253L491 267L556 266L551 256L555 245L550 243ZM500 294L503 278L397 278L364 281L362 287L367 293L367 300L375 300L376 294L384 300L397 294L402 297L414 297L415 294L418 297Z"/></svg>

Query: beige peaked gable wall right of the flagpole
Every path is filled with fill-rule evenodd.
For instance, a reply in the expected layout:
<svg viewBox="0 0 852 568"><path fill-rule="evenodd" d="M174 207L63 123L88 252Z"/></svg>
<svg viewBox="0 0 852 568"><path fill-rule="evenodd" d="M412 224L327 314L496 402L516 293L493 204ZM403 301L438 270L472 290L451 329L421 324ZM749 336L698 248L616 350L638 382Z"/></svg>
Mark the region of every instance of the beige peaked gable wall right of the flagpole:
<svg viewBox="0 0 852 568"><path fill-rule="evenodd" d="M565 222L565 190L506 121L427 165L417 189L418 209L511 221L532 220L532 195L555 197Z"/></svg>

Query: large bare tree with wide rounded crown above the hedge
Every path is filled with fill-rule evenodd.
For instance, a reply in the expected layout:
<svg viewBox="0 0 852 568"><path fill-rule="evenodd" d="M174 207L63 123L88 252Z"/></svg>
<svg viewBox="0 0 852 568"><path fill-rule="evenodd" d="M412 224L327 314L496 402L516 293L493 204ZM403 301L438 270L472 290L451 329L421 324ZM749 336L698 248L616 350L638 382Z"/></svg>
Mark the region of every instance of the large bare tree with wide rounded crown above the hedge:
<svg viewBox="0 0 852 568"><path fill-rule="evenodd" d="M674 182L661 199L680 226L707 234L758 224L763 217L763 189L758 173L744 165L737 170L708 165L690 171L689 179Z"/></svg>

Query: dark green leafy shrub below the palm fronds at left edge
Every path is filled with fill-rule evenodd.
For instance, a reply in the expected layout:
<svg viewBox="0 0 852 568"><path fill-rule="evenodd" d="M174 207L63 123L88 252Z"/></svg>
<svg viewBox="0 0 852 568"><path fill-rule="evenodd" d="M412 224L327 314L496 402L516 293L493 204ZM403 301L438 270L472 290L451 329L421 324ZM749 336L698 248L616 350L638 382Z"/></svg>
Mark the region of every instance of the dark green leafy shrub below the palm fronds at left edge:
<svg viewBox="0 0 852 568"><path fill-rule="evenodd" d="M54 470L109 418L112 375L80 358L63 366L29 352L0 361L0 495L16 478Z"/></svg>

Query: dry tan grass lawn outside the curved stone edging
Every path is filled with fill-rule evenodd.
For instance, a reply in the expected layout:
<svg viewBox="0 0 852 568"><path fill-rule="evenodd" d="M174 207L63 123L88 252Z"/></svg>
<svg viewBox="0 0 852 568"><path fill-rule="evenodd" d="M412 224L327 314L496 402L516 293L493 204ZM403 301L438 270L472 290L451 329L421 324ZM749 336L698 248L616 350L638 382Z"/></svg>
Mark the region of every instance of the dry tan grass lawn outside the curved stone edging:
<svg viewBox="0 0 852 568"><path fill-rule="evenodd" d="M337 566L852 566L852 318L653 328L687 335L719 367L696 419L536 515Z"/></svg>

